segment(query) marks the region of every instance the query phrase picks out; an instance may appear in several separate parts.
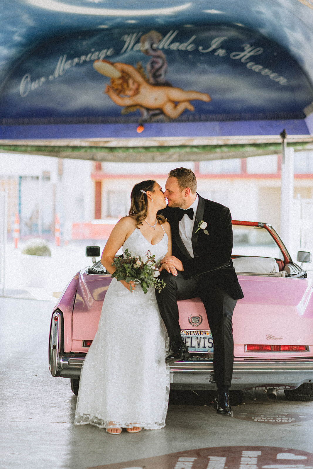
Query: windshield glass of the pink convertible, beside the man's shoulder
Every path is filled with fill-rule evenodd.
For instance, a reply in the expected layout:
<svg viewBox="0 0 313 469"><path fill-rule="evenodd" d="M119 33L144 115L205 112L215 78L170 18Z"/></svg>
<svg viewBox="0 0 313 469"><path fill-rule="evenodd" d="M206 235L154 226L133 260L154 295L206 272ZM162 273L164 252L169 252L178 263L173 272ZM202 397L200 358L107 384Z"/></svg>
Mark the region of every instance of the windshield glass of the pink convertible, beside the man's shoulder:
<svg viewBox="0 0 313 469"><path fill-rule="evenodd" d="M233 255L275 257L283 260L282 251L266 228L233 225Z"/></svg>

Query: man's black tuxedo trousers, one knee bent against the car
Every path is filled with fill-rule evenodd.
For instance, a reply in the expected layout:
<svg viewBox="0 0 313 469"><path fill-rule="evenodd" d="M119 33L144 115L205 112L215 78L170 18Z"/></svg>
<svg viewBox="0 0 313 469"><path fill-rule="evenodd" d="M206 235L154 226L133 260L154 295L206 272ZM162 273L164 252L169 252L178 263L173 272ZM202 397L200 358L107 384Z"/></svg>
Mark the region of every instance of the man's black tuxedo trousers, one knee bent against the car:
<svg viewBox="0 0 313 469"><path fill-rule="evenodd" d="M234 362L232 315L237 300L219 286L208 281L202 274L185 279L182 272L177 276L163 270L160 279L166 283L160 293L156 292L160 315L169 337L180 334L177 300L199 297L206 309L214 342L213 368L217 387L230 386Z"/></svg>

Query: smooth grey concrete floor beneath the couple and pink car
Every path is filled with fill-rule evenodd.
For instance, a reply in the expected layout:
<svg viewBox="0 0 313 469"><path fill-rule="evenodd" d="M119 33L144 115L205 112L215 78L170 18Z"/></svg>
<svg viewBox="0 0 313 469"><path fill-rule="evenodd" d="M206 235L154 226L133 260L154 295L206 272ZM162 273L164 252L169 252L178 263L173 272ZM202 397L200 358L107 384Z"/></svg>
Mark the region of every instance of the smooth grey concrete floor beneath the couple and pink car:
<svg viewBox="0 0 313 469"><path fill-rule="evenodd" d="M176 391L167 426L133 435L73 425L69 380L48 370L52 309L53 302L0 298L1 469L85 469L217 446L313 452L313 402L289 402L283 392L276 401L261 391L234 395L231 419L216 415L213 394Z"/></svg>

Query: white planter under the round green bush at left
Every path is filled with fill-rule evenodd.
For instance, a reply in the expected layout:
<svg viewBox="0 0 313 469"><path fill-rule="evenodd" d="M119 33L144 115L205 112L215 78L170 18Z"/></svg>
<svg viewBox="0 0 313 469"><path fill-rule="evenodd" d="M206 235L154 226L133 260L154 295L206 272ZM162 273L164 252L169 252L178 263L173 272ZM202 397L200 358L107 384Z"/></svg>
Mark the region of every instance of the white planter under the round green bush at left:
<svg viewBox="0 0 313 469"><path fill-rule="evenodd" d="M51 268L51 257L22 254L20 267L24 287L46 287Z"/></svg>

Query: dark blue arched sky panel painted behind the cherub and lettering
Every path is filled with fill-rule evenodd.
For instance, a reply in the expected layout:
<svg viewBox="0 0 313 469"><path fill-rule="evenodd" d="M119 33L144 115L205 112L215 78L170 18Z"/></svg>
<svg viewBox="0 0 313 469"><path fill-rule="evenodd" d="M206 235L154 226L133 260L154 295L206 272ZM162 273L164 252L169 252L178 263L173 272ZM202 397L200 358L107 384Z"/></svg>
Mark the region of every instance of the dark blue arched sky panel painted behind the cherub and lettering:
<svg viewBox="0 0 313 469"><path fill-rule="evenodd" d="M163 38L160 50L168 62L166 80L174 87L208 93L212 98L209 103L192 101L195 111L184 111L178 120L304 117L303 109L313 99L310 83L296 61L262 35L225 25L159 27L156 31ZM109 78L94 70L92 58L107 50L105 58L112 62L134 67L141 62L146 69L150 57L136 50L136 44L147 32L143 28L84 31L36 47L2 89L0 117L25 119L25 123L38 118L51 122L137 121L138 111L121 116L122 107L103 94ZM79 59L78 63L73 65L73 59Z"/></svg>

